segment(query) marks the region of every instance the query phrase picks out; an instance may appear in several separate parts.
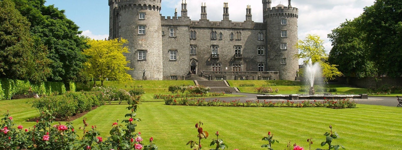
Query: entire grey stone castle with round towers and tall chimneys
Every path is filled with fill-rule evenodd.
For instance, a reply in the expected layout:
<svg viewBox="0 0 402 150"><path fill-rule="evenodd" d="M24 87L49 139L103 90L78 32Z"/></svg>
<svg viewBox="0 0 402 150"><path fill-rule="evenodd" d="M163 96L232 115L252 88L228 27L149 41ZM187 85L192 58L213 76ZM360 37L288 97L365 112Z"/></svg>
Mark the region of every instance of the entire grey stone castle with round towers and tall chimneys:
<svg viewBox="0 0 402 150"><path fill-rule="evenodd" d="M253 80L295 80L298 9L291 0L288 6L272 8L271 0L262 0L262 23L252 21L250 6L244 22L232 22L228 3L223 20L210 21L205 4L201 19L191 20L186 1L181 16L175 12L174 17L160 14L161 2L109 0L109 39L129 41L125 56L134 79L185 80L189 74L203 74L209 80L246 75Z"/></svg>

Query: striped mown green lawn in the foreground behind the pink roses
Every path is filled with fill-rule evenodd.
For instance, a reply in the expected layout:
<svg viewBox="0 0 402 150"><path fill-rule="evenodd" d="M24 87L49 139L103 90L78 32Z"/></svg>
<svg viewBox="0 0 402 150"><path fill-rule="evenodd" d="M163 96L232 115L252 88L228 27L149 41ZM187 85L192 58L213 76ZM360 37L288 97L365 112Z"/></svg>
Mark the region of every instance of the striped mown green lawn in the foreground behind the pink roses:
<svg viewBox="0 0 402 150"><path fill-rule="evenodd" d="M32 100L0 101L0 113L7 109L14 117L16 125L25 128L33 126L35 122L23 120L37 116L36 110L25 102ZM105 105L88 112L84 117L87 122L96 125L101 135L109 134L111 125L117 120L123 120L127 105ZM342 144L349 150L402 150L402 109L396 107L357 105L353 109L329 108L242 108L242 107L194 107L194 106L167 106L163 102L142 102L137 111L137 117L142 119L138 123L137 131L142 137L151 136L161 150L189 149L185 144L189 140L197 139L194 124L201 121L204 130L210 133L207 140L202 140L204 147L208 147L219 130L220 138L229 146L229 150L256 150L265 141L261 139L270 131L279 143L273 148L279 150L296 143L308 147L307 138L313 138L313 149L321 148L324 141L322 136L329 132L329 125L338 132L340 138L333 144ZM73 121L78 129L82 126L82 118ZM62 124L64 124L62 122ZM119 122L119 124L121 124ZM209 149L209 147L207 148Z"/></svg>

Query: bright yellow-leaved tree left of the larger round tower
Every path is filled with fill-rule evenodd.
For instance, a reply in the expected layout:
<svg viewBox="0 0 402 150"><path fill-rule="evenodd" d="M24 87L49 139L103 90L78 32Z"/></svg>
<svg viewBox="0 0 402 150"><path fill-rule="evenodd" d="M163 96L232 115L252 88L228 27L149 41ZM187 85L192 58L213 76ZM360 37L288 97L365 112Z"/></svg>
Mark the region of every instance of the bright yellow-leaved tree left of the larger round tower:
<svg viewBox="0 0 402 150"><path fill-rule="evenodd" d="M127 67L129 61L123 53L128 53L128 48L123 47L123 44L127 44L125 39L114 40L88 40L90 48L84 50L84 54L90 56L88 62L86 62L87 73L95 80L100 80L103 86L103 81L106 78L127 81L131 80L131 76L127 74L127 70L131 70Z"/></svg>

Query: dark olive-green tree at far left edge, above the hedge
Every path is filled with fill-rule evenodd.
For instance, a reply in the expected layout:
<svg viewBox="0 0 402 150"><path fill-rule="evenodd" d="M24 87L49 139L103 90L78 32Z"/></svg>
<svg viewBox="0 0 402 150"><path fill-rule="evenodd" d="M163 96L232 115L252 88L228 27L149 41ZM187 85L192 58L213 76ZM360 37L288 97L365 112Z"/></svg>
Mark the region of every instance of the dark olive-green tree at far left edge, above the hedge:
<svg viewBox="0 0 402 150"><path fill-rule="evenodd" d="M14 2L0 1L0 78L45 81L50 75L47 51L29 32L30 23Z"/></svg>

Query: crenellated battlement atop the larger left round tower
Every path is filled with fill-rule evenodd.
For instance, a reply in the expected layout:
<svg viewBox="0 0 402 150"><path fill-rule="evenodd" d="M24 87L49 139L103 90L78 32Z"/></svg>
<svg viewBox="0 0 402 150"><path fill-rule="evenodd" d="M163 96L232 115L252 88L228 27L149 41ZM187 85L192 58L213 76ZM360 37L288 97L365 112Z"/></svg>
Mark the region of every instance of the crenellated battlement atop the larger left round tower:
<svg viewBox="0 0 402 150"><path fill-rule="evenodd" d="M156 10L160 11L161 0L115 0L119 10L139 9L139 10ZM110 2L109 2L110 3Z"/></svg>

